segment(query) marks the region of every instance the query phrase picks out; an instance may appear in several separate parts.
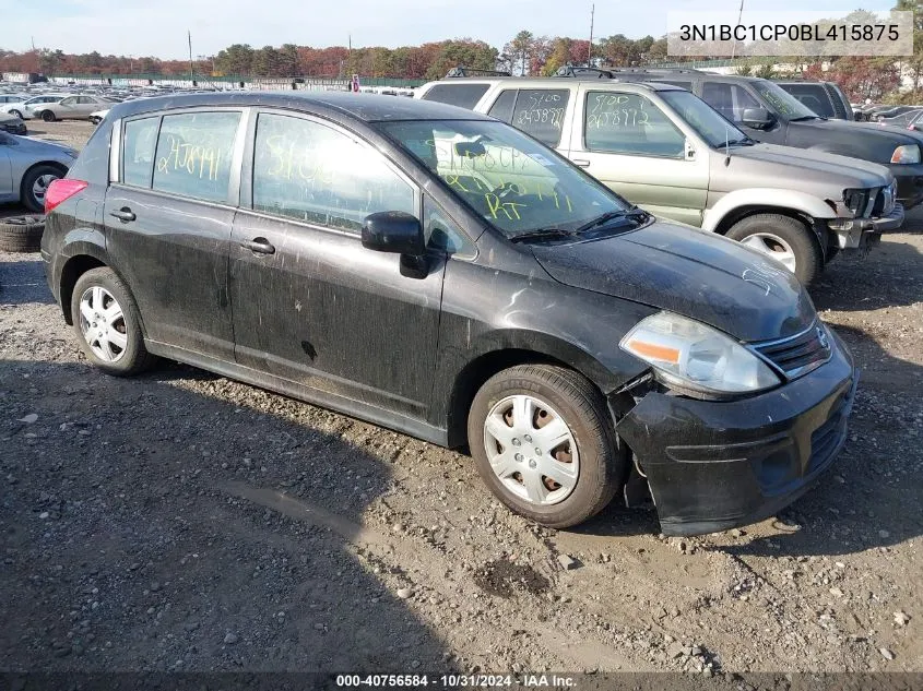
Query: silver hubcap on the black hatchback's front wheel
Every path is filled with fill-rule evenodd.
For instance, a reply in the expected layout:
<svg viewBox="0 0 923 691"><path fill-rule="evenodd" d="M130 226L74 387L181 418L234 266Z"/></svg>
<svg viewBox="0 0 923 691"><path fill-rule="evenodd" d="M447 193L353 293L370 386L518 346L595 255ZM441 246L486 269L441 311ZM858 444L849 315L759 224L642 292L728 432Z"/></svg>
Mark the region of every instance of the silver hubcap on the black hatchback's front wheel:
<svg viewBox="0 0 923 691"><path fill-rule="evenodd" d="M490 468L513 495L534 504L556 504L577 486L577 441L547 403L517 394L499 401L484 421Z"/></svg>

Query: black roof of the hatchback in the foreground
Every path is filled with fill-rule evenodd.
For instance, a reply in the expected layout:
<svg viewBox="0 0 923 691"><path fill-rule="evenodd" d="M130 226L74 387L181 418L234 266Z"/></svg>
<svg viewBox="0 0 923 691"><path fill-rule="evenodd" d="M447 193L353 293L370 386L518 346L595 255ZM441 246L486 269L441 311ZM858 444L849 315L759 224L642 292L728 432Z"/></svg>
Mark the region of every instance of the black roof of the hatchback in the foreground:
<svg viewBox="0 0 923 691"><path fill-rule="evenodd" d="M347 117L365 122L382 120L487 120L465 108L445 104L343 92L215 92L208 94L170 94L113 104L111 116L125 118L166 108L209 106L263 106L312 112L328 117Z"/></svg>

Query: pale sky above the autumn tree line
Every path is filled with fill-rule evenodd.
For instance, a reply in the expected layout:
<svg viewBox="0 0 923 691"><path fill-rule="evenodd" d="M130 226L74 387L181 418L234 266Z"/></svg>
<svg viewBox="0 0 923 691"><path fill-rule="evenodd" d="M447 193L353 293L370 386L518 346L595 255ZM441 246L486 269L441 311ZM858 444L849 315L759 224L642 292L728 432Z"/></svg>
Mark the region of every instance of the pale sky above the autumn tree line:
<svg viewBox="0 0 923 691"><path fill-rule="evenodd" d="M744 0L766 10L765 3ZM855 0L853 0L855 1ZM536 36L590 34L593 0L0 0L0 48L60 48L64 52L187 58L213 55L232 44L255 48L292 43L354 47L419 45L446 38L480 38L501 48L519 31ZM774 0L772 10L842 11L843 0ZM894 0L862 0L861 7L887 11ZM761 8L760 8L761 5ZM597 0L594 37L625 34L654 37L666 31L671 10L733 11L739 0Z"/></svg>

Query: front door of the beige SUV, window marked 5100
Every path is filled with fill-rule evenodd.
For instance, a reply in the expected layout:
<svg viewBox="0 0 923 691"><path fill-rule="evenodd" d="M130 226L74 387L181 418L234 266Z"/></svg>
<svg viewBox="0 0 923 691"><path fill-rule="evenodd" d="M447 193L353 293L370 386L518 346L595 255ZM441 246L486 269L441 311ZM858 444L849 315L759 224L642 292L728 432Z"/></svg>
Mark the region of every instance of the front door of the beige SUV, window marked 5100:
<svg viewBox="0 0 923 691"><path fill-rule="evenodd" d="M569 157L652 214L701 226L708 152L689 155L686 135L647 96L581 87Z"/></svg>

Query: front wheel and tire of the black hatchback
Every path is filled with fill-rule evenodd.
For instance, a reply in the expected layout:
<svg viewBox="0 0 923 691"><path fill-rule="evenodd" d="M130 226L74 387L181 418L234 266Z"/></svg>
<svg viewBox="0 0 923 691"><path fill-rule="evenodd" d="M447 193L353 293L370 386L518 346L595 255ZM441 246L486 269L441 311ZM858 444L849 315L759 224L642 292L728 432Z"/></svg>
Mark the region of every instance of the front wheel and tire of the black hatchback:
<svg viewBox="0 0 923 691"><path fill-rule="evenodd" d="M523 400L531 400L534 407L521 407L518 402ZM516 410L526 413L517 420ZM542 441L542 419L555 425L553 434L565 436L564 443ZM500 444L488 427L508 444ZM627 449L618 443L603 396L582 374L563 367L521 365L488 379L474 396L468 440L490 491L512 511L553 528L577 525L599 513L629 467ZM552 481L542 474L545 470L564 481ZM532 490L540 501L530 498Z"/></svg>

